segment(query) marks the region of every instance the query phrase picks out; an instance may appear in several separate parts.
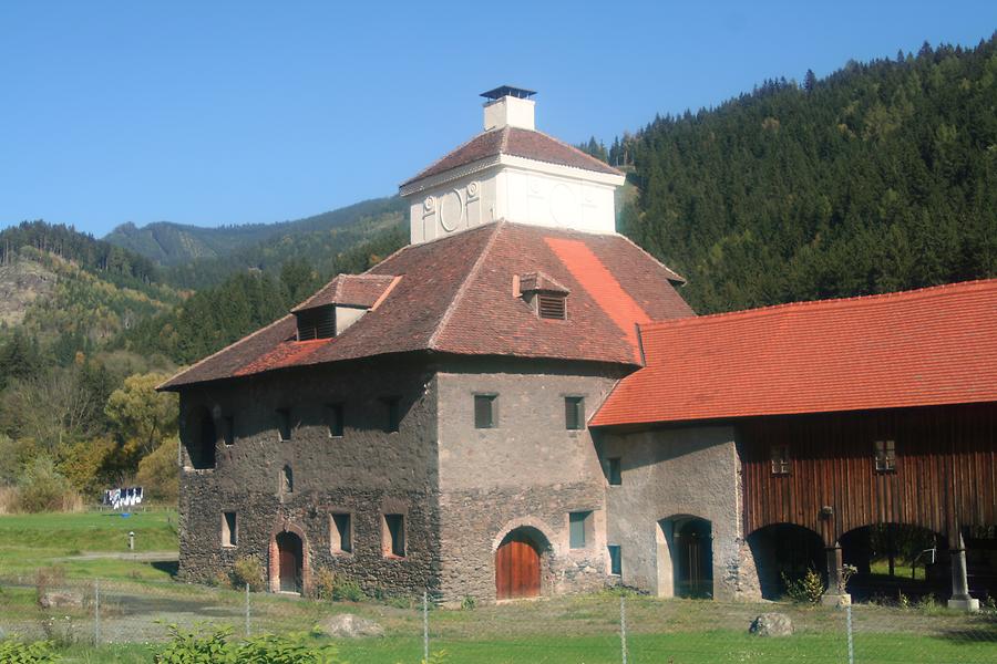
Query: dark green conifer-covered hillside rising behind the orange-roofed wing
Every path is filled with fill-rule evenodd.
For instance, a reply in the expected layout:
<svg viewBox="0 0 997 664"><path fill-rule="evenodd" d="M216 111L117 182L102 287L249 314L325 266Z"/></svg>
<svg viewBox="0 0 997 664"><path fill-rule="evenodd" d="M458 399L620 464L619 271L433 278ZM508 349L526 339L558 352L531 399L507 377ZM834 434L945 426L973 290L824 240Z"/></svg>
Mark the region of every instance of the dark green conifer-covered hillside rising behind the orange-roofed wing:
<svg viewBox="0 0 997 664"><path fill-rule="evenodd" d="M769 81L607 152L640 190L620 230L701 313L997 274L997 35Z"/></svg>

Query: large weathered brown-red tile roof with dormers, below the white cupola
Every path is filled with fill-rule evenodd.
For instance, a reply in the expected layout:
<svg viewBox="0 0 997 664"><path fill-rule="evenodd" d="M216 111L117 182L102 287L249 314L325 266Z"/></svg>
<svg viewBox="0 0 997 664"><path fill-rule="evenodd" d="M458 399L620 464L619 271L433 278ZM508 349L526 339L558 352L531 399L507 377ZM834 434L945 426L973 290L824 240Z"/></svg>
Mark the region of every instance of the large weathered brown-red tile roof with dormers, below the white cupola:
<svg viewBox="0 0 997 664"><path fill-rule="evenodd" d="M526 272L569 291L567 321L541 319L514 295L513 278ZM498 221L405 247L366 276L400 279L339 336L295 341L287 315L162 387L425 350L636 366L637 321L693 315L672 286L681 278L617 235Z"/></svg>

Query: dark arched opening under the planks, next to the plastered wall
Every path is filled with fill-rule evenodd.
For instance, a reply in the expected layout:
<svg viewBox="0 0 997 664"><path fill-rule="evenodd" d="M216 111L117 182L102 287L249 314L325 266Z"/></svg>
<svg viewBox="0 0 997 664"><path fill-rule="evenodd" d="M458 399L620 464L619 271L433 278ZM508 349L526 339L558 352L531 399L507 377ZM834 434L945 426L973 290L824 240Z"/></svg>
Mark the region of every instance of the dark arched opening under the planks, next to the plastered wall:
<svg viewBox="0 0 997 664"><path fill-rule="evenodd" d="M808 570L826 575L824 541L809 528L793 523L765 526L748 536L748 547L763 599L780 599L785 594L785 581L801 579Z"/></svg>

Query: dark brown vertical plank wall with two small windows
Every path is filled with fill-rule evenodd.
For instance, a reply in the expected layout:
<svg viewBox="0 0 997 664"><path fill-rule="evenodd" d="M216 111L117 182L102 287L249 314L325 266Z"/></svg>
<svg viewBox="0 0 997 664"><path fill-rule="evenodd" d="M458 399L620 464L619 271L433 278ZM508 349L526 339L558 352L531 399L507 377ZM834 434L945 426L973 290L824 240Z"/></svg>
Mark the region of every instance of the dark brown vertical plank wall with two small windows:
<svg viewBox="0 0 997 664"><path fill-rule="evenodd" d="M876 473L875 440L896 442ZM759 417L738 425L744 527L795 523L831 544L854 528L907 523L938 533L997 525L997 404ZM771 446L789 445L788 476ZM833 516L821 516L830 506Z"/></svg>

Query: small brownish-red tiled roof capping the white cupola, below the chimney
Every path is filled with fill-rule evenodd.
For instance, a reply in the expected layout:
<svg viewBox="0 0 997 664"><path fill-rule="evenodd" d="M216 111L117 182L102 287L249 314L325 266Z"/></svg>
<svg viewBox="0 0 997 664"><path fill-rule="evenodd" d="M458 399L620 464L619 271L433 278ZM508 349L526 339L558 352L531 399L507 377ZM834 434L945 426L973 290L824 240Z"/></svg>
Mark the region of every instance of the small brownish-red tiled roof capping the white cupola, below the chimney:
<svg viewBox="0 0 997 664"><path fill-rule="evenodd" d="M623 175L605 162L585 154L576 147L562 143L557 138L547 136L542 132L523 129L520 127L503 127L483 132L461 145L446 156L430 165L419 175L402 183L402 186L412 184L432 175L445 173L459 166L473 164L487 157L498 155L512 155L526 157L537 162L572 166L584 170L595 170L611 175Z"/></svg>

